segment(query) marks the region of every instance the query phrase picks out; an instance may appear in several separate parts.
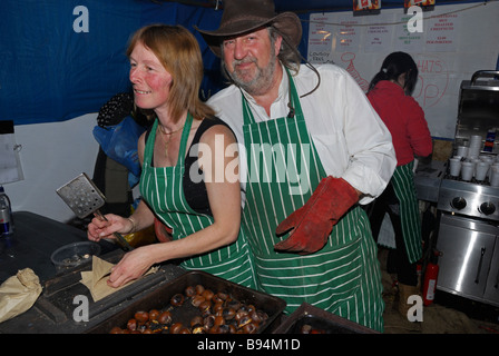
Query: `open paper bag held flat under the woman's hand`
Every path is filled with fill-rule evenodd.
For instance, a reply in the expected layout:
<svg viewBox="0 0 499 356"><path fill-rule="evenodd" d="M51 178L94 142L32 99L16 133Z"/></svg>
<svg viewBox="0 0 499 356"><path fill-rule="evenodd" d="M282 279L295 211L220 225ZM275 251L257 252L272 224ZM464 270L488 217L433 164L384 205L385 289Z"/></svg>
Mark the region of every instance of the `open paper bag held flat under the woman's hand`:
<svg viewBox="0 0 499 356"><path fill-rule="evenodd" d="M98 301L104 297L133 284L135 280L130 280L129 283L123 285L121 287L115 288L107 285L107 280L109 279L109 275L111 273L111 268L115 265L100 259L96 256L92 256L91 261L91 270L85 270L81 273L80 283L84 284L91 294L94 301ZM155 273L157 267L151 267L144 276Z"/></svg>

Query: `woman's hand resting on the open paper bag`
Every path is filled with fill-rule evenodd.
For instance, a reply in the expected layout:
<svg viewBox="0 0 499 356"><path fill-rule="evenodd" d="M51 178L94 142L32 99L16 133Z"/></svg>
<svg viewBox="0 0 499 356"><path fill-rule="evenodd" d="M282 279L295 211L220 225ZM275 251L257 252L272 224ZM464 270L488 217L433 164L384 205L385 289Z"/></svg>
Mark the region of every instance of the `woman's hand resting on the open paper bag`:
<svg viewBox="0 0 499 356"><path fill-rule="evenodd" d="M130 280L137 279L143 276L150 266L153 266L154 260L151 258L151 248L155 245L143 246L127 253L121 260L111 269L111 275L107 280L108 286L117 288Z"/></svg>

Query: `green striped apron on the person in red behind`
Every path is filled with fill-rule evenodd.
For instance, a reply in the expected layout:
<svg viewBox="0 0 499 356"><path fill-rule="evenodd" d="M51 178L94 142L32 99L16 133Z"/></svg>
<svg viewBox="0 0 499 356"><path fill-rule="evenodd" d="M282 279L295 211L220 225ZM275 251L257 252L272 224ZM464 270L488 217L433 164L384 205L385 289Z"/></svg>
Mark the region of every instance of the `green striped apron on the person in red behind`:
<svg viewBox="0 0 499 356"><path fill-rule="evenodd" d="M400 201L400 220L403 241L411 264L422 256L421 218L417 198L414 175L412 172L414 161L404 166L398 166L393 172L391 184L397 198Z"/></svg>

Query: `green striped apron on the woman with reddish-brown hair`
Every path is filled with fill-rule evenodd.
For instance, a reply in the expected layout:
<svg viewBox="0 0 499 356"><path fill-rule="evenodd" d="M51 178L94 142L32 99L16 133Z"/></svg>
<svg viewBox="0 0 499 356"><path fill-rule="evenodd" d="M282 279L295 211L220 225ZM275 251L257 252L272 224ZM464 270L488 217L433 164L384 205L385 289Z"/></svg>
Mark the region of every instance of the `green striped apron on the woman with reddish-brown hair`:
<svg viewBox="0 0 499 356"><path fill-rule="evenodd" d="M178 160L175 167L153 167L157 119L153 125L144 152L140 194L158 219L173 228L174 240L202 230L214 221L212 216L194 211L188 206L184 195L184 152L186 151L192 123L193 118L188 115L182 132ZM204 270L245 287L256 288L250 247L242 229L235 243L212 253L186 258L180 266L186 269Z"/></svg>

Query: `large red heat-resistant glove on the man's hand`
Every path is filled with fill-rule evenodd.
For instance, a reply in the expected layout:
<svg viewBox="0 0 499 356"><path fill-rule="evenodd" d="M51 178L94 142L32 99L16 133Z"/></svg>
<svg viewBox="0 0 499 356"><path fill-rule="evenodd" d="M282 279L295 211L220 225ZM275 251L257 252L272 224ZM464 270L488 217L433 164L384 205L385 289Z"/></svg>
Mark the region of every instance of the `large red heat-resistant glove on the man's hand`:
<svg viewBox="0 0 499 356"><path fill-rule="evenodd" d="M344 179L323 178L305 205L277 226L277 236L291 233L285 240L275 244L274 249L300 255L319 251L333 226L358 200L358 192Z"/></svg>

